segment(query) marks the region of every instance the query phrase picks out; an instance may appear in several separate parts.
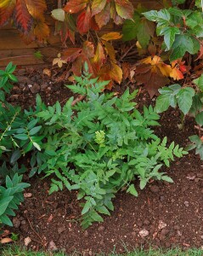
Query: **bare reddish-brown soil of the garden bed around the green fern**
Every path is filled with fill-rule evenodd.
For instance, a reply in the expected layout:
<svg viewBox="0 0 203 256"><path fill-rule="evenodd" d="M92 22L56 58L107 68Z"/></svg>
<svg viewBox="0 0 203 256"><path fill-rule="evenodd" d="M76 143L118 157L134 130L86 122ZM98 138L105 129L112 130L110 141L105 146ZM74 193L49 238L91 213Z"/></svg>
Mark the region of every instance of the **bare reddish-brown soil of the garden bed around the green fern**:
<svg viewBox="0 0 203 256"><path fill-rule="evenodd" d="M20 102L23 108L33 105L36 93L52 104L57 99L65 102L70 91L64 87L65 73L48 78L34 70L19 71L20 83L14 86L10 102ZM116 88L116 91L119 90ZM141 93L139 105L149 104L148 96ZM186 120L184 130L178 130L178 111L169 110L161 117L160 137L167 136L185 146L190 135L195 134L194 123ZM174 183L153 182L139 191L138 198L125 191L116 195L115 211L104 217L103 224L93 224L82 230L79 218L81 208L76 193L64 190L48 195L48 180L31 178L31 188L26 193L20 211L14 218L14 232L20 234L20 243L30 237L29 247L63 249L84 255L121 253L133 247L202 247L203 246L203 162L191 153L176 160L164 169ZM137 185L138 188L138 185Z"/></svg>

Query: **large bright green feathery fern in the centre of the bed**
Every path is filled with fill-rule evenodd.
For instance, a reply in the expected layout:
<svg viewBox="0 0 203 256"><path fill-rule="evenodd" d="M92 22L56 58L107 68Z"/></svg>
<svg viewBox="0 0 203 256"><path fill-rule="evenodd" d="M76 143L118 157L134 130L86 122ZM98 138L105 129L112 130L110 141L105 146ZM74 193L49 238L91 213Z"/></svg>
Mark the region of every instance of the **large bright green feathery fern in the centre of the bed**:
<svg viewBox="0 0 203 256"><path fill-rule="evenodd" d="M120 98L101 93L108 82L91 79L87 65L85 69L68 88L86 100L75 104L71 97L61 108L59 102L46 107L37 98L34 114L46 137L42 151L31 158L31 175L43 171L56 176L50 193L64 187L78 190L83 228L103 221L100 214L110 215L118 190L137 196L135 179L140 189L150 179L172 182L161 166L169 166L173 155L187 154L174 143L167 147L166 137L161 141L155 136L151 127L159 125L159 115L151 106L143 114L135 108L137 90L126 90Z"/></svg>

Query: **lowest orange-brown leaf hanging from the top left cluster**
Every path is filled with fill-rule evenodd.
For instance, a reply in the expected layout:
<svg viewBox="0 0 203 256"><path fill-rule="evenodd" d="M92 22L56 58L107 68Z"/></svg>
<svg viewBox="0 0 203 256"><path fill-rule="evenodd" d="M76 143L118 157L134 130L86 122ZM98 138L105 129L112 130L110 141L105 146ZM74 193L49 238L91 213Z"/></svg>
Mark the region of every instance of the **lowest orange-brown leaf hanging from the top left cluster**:
<svg viewBox="0 0 203 256"><path fill-rule="evenodd" d="M42 42L49 36L49 27L43 20L36 20L34 35L39 42Z"/></svg>

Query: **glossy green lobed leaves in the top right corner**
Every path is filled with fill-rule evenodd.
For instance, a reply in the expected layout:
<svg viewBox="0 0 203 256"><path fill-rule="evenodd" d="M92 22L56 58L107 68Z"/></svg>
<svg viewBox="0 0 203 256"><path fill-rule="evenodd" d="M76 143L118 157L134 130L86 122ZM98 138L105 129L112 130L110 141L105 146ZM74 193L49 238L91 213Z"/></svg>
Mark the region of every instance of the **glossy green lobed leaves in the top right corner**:
<svg viewBox="0 0 203 256"><path fill-rule="evenodd" d="M173 1L174 5L179 3L184 1ZM186 52L195 55L200 50L203 16L199 10L180 9L174 6L160 11L150 10L143 15L157 23L156 33L163 36L162 48L170 50L170 61L182 58Z"/></svg>

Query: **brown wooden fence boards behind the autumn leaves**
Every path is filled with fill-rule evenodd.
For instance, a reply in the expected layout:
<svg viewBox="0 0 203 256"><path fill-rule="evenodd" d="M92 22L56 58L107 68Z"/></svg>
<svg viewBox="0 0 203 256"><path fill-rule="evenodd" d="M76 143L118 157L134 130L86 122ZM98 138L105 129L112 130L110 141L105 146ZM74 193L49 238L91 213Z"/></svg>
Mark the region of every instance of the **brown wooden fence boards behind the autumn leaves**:
<svg viewBox="0 0 203 256"><path fill-rule="evenodd" d="M132 0L133 5L136 7L138 3L141 3L148 9L161 9L161 3L159 1L149 0ZM48 10L56 8L55 0L47 0ZM55 4L55 5L54 5ZM48 26L51 30L51 36L48 38L48 45L37 44L36 42L31 44L25 44L20 38L20 32L14 29L10 25L0 28L0 67L4 67L9 61L13 61L16 65L37 65L43 64L45 61L52 61L57 55L61 47L59 36L54 36L54 20L50 17L50 13L46 15ZM112 22L104 27L99 36L107 32L121 31L121 27L114 25ZM34 53L40 50L44 55L43 61L37 59ZM20 55L22 56L20 58Z"/></svg>

